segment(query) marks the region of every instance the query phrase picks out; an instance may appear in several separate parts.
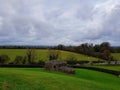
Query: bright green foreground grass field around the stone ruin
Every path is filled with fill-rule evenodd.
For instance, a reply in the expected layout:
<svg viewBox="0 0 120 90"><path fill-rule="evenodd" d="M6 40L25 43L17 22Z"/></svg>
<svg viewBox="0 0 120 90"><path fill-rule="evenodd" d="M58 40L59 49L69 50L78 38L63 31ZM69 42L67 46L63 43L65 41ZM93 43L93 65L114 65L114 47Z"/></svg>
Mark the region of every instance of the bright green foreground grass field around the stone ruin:
<svg viewBox="0 0 120 90"><path fill-rule="evenodd" d="M0 90L118 90L120 78L76 69L75 75L42 68L0 68Z"/></svg>

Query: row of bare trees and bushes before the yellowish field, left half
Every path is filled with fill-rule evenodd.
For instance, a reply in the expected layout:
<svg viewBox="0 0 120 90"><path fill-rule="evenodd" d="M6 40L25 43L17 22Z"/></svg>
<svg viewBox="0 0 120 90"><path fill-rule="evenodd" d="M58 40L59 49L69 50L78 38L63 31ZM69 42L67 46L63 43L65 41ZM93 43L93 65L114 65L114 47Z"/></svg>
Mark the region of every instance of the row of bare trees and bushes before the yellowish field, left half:
<svg viewBox="0 0 120 90"><path fill-rule="evenodd" d="M9 55L0 55L0 65L42 65L45 60L40 60L37 57L36 49L27 49L25 55L17 55L14 60L10 60ZM57 60L60 56L60 51L48 49L48 60Z"/></svg>

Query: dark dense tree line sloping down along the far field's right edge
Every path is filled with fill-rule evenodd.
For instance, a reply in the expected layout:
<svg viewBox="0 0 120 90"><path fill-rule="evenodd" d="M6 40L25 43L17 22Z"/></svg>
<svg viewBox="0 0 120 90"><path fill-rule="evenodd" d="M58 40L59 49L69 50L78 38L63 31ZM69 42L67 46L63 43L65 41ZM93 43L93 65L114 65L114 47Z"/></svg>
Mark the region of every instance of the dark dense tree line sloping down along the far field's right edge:
<svg viewBox="0 0 120 90"><path fill-rule="evenodd" d="M111 53L120 52L120 47L112 47L109 42L103 42L101 44L95 45L85 43L78 46L64 46L60 44L56 46L55 49L76 52L88 56L101 58L104 60L115 60L111 56Z"/></svg>

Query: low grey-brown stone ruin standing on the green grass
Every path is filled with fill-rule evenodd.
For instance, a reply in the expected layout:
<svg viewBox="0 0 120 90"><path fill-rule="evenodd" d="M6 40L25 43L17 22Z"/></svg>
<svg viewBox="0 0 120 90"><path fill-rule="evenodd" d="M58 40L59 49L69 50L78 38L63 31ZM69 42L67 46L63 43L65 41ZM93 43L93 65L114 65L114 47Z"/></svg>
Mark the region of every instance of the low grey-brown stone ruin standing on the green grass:
<svg viewBox="0 0 120 90"><path fill-rule="evenodd" d="M59 71L68 74L75 74L75 70L67 67L67 62L62 60L50 60L45 63L45 69L49 71Z"/></svg>

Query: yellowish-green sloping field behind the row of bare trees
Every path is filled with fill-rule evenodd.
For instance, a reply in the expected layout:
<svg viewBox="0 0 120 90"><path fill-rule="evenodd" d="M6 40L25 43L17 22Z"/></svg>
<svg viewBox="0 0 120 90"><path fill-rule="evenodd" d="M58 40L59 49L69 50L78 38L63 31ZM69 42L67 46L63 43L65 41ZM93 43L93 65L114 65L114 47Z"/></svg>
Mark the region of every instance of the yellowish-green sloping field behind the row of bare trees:
<svg viewBox="0 0 120 90"><path fill-rule="evenodd" d="M77 53L73 53L73 52L67 52L67 51L60 51L60 52L61 52L61 54L60 54L59 59L61 59L61 60L68 60L69 57L71 57L71 56L75 57L77 60L88 60L88 61L98 60L98 58L89 57L86 55L77 54ZM7 54L10 57L11 61L13 61L17 55L24 56L26 54L26 50L25 49L0 49L0 55L2 55L2 54ZM37 55L37 61L38 60L48 60L48 50L47 49L37 49L36 55Z"/></svg>

